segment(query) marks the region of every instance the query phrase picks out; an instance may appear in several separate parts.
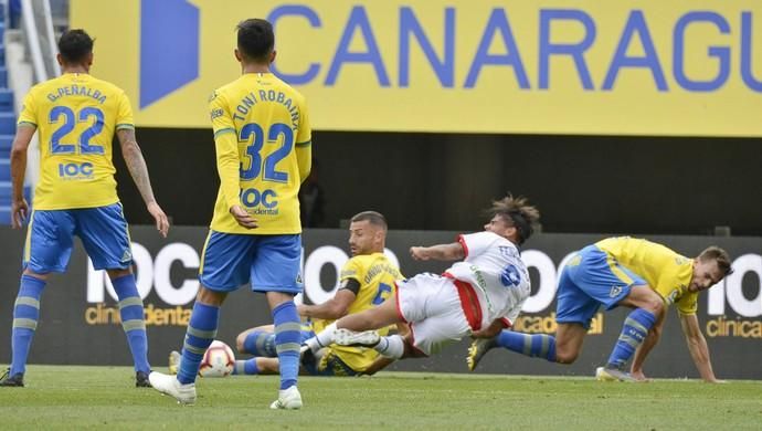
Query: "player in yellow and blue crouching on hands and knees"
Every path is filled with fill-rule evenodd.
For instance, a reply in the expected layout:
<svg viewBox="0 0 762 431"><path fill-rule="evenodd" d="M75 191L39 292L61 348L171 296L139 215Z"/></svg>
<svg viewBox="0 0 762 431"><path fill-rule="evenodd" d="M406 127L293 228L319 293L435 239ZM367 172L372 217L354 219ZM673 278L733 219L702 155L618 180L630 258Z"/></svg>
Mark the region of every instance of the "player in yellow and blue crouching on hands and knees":
<svg viewBox="0 0 762 431"><path fill-rule="evenodd" d="M666 309L675 304L688 349L701 378L718 381L709 348L699 328L698 294L730 274L730 256L717 246L698 257L684 257L668 248L629 236L608 238L588 245L564 266L559 280L555 337L502 332L497 338L472 345L468 367L473 370L493 347L552 362L572 364L582 350L590 323L603 305L635 308L626 317L614 350L599 380L644 380L643 362L662 334ZM634 358L633 358L634 355ZM631 372L624 367L633 358Z"/></svg>

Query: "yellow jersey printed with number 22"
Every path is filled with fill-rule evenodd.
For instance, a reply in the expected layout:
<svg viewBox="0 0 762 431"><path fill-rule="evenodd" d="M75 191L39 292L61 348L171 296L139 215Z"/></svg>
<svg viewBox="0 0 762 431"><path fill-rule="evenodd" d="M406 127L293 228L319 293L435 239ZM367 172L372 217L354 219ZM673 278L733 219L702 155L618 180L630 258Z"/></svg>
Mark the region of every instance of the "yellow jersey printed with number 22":
<svg viewBox="0 0 762 431"><path fill-rule="evenodd" d="M116 130L135 128L121 88L86 73L65 73L30 90L19 125L32 125L39 134L35 210L95 208L119 201L112 141Z"/></svg>

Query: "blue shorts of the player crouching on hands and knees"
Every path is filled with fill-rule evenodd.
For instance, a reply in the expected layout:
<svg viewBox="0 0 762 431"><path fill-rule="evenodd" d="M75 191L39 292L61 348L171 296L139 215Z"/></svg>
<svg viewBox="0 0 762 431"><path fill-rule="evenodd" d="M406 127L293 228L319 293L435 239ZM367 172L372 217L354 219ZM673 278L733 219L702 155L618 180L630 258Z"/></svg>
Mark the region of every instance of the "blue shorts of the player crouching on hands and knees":
<svg viewBox="0 0 762 431"><path fill-rule="evenodd" d="M629 294L632 286L643 284L647 283L613 256L588 245L561 272L555 322L581 323L590 328L601 305L612 309Z"/></svg>

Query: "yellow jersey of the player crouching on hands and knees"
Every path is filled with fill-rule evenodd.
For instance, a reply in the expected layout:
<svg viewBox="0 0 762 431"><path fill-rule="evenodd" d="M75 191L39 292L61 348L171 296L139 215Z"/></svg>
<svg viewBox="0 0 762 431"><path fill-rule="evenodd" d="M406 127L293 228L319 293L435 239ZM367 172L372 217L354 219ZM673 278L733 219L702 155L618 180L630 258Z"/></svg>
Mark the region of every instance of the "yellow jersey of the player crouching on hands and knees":
<svg viewBox="0 0 762 431"><path fill-rule="evenodd" d="M684 315L698 309L698 292L689 292L694 260L650 241L629 236L608 238L595 245L621 265L642 276L667 305L676 304Z"/></svg>

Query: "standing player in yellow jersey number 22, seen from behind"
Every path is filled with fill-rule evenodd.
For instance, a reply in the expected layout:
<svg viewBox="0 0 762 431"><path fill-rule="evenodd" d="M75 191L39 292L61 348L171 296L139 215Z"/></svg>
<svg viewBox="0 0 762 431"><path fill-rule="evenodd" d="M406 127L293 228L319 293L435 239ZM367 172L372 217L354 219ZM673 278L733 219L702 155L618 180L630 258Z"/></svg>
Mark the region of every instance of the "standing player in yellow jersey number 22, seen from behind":
<svg viewBox="0 0 762 431"><path fill-rule="evenodd" d="M131 271L127 222L116 195L112 141L116 134L127 168L166 236L169 222L154 198L146 162L135 140L133 112L117 86L89 75L93 40L70 30L59 41L63 75L32 87L19 115L11 150L13 227L21 228L29 206L23 198L27 149L40 138L40 182L27 229L23 275L13 308L12 364L0 386L23 386L27 357L36 329L40 297L51 272L64 272L74 235L96 270L106 270L119 298L121 326L135 362L136 385L148 387L142 301Z"/></svg>

